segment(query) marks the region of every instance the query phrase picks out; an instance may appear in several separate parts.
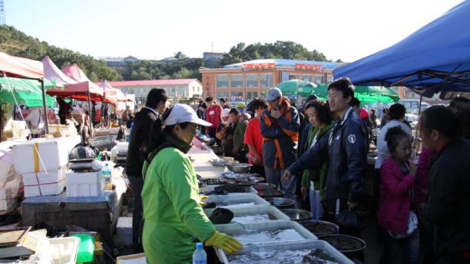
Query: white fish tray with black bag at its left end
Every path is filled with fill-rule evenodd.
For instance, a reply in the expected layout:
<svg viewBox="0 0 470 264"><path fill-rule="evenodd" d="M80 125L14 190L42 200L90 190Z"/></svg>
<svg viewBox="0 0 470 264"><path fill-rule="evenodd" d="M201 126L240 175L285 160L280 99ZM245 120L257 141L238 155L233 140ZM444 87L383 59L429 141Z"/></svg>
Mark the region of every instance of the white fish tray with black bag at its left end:
<svg viewBox="0 0 470 264"><path fill-rule="evenodd" d="M278 208L271 205L258 206L225 206L234 213L234 222L262 222L269 220L290 220ZM210 216L214 209L204 209L204 213Z"/></svg>

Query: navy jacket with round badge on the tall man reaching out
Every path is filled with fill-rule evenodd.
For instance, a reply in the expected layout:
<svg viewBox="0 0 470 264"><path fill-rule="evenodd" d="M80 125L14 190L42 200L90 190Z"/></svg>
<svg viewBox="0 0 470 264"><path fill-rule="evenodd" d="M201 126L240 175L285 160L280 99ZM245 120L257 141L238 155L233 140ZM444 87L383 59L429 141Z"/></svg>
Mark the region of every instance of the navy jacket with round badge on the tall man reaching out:
<svg viewBox="0 0 470 264"><path fill-rule="evenodd" d="M357 202L364 188L367 166L366 132L359 116L350 107L342 120L289 167L291 174L308 168L320 169L329 162L325 196Z"/></svg>

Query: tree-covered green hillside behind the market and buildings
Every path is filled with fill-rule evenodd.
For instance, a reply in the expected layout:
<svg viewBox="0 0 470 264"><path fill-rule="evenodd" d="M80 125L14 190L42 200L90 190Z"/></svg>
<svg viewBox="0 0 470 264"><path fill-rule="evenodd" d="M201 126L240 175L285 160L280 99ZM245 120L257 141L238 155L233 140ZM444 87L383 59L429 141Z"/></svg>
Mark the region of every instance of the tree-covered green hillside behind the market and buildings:
<svg viewBox="0 0 470 264"><path fill-rule="evenodd" d="M99 82L104 79L116 80L150 80L150 79L201 79L199 67L204 66L202 58L188 58L183 52L174 54L174 60L154 61L141 60L131 62L126 67L108 67L104 61L96 60L90 55L84 55L67 48L60 48L37 38L30 37L13 26L0 26L0 50L11 55L41 60L48 55L59 67L77 64L92 80ZM309 51L301 44L291 41L276 43L255 43L245 45L238 43L224 54L219 66L239 63L256 59L291 59L308 61L328 61L325 54ZM341 62L338 60L336 62Z"/></svg>

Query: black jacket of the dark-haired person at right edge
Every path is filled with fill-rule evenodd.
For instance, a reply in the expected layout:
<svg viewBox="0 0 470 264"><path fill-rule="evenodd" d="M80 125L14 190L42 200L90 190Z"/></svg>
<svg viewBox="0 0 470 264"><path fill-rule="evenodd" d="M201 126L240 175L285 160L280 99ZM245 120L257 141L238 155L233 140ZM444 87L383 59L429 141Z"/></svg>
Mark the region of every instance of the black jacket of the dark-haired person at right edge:
<svg viewBox="0 0 470 264"><path fill-rule="evenodd" d="M470 250L470 140L450 142L430 159L424 217L433 225L437 254Z"/></svg>

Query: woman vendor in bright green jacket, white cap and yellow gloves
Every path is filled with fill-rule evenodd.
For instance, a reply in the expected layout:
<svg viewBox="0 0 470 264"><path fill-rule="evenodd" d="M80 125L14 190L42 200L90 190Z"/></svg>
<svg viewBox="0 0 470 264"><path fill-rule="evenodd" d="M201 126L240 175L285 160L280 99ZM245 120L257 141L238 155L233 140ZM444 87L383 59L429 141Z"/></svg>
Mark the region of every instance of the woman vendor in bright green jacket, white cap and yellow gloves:
<svg viewBox="0 0 470 264"><path fill-rule="evenodd" d="M177 104L155 121L150 133L152 151L143 166L141 193L147 263L192 263L194 237L232 253L242 247L217 232L200 205L196 173L186 156L198 125L211 126L188 105Z"/></svg>

